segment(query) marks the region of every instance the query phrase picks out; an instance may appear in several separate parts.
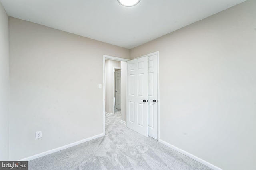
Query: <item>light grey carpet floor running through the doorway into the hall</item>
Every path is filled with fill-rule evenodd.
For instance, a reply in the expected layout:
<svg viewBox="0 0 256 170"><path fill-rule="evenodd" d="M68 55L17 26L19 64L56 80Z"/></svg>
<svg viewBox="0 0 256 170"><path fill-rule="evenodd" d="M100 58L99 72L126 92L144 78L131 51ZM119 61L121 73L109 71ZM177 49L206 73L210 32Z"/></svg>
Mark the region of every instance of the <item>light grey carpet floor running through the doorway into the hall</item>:
<svg viewBox="0 0 256 170"><path fill-rule="evenodd" d="M106 116L106 135L28 162L28 170L211 170Z"/></svg>

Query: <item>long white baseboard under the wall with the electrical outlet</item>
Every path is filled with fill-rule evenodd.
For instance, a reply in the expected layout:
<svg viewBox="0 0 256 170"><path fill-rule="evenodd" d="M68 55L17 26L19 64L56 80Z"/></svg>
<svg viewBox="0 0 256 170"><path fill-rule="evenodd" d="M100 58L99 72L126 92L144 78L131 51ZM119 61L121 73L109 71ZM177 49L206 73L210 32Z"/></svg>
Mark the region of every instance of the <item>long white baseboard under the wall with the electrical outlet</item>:
<svg viewBox="0 0 256 170"><path fill-rule="evenodd" d="M70 144L68 144L68 145L64 145L64 146L62 146L62 147L58 147L58 148L55 148L55 149L52 149L52 150L48 150L48 151L42 152L42 153L40 153L40 154L36 154L36 155L33 155L33 156L29 156L29 157L27 157L27 158L21 159L20 161L29 161L29 160L33 160L33 159L36 159L36 158L40 158L40 157L42 157L42 156L45 156L45 155L48 155L48 154L51 154L51 153L54 153L54 152L58 152L58 151L63 150L63 149L67 149L67 148L69 148L69 147L73 147L73 146L75 146L75 145L79 145L79 144L81 144L81 143L84 143L84 142L87 142L87 141L90 141L90 140L92 140L92 139L96 139L96 138L102 137L102 136L104 136L103 133L101 133L101 134L99 134L99 135L95 135L95 136L93 136L93 137L89 137L89 138L83 139L83 140L81 140L81 141L77 141L77 142L74 142L74 143L70 143Z"/></svg>

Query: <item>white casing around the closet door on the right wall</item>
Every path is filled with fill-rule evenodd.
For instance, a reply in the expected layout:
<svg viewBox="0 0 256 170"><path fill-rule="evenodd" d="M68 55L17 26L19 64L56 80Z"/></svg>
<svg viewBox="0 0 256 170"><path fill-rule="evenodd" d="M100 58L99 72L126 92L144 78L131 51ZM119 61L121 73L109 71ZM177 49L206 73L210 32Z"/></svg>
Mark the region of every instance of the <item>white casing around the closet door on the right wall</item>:
<svg viewBox="0 0 256 170"><path fill-rule="evenodd" d="M159 88L159 51L147 54L147 55L143 55L140 57L136 57L134 59L138 59L141 57L150 57L151 55L156 55L157 57L157 141L159 142L160 140L160 88ZM126 95L126 101L127 101L127 95ZM127 107L127 106L126 106ZM127 121L127 114L126 114L126 121ZM126 125L127 126L127 125Z"/></svg>

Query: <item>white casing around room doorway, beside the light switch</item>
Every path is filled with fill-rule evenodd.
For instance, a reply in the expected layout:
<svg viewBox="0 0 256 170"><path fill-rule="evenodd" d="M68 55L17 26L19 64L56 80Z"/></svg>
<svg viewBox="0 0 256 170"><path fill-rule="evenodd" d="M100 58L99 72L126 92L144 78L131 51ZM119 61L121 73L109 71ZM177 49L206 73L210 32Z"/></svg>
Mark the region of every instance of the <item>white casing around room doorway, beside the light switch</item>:
<svg viewBox="0 0 256 170"><path fill-rule="evenodd" d="M110 55L103 55L103 134L105 135L105 101L106 101L106 59L110 59L110 60L116 60L116 61L129 61L130 59L124 59L124 58L120 58L120 57L114 57L114 56L110 56Z"/></svg>

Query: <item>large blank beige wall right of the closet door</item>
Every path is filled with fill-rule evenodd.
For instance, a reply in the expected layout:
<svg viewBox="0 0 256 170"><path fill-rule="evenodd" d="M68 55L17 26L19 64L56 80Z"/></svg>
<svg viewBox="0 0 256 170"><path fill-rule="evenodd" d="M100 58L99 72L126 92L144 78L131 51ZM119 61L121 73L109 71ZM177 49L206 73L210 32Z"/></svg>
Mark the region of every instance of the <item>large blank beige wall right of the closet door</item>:
<svg viewBox="0 0 256 170"><path fill-rule="evenodd" d="M256 169L256 1L131 49L159 51L160 139L224 170Z"/></svg>

